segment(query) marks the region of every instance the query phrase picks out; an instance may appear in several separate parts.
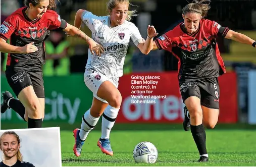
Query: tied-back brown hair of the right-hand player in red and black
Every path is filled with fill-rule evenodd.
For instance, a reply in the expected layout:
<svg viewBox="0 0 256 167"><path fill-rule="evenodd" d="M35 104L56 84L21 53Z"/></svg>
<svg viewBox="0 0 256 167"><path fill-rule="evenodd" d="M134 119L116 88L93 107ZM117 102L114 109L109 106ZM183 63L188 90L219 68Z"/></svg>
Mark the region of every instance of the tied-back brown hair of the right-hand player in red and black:
<svg viewBox="0 0 256 167"><path fill-rule="evenodd" d="M210 7L210 0L194 0L192 3L186 5L182 13L185 15L188 12L199 13L202 18L206 17Z"/></svg>

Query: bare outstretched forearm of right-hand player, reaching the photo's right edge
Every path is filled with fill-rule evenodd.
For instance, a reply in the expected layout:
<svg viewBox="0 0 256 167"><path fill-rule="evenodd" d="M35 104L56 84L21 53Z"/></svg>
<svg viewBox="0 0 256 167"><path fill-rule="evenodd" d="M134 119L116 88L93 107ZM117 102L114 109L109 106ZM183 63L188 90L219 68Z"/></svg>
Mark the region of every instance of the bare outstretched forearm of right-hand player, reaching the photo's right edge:
<svg viewBox="0 0 256 167"><path fill-rule="evenodd" d="M229 30L227 35L225 36L225 38L227 39L232 39L234 41L240 42L240 43L244 43L244 44L249 44L252 45L253 42L255 42L255 40L249 38L248 36ZM255 47L255 46L254 46Z"/></svg>

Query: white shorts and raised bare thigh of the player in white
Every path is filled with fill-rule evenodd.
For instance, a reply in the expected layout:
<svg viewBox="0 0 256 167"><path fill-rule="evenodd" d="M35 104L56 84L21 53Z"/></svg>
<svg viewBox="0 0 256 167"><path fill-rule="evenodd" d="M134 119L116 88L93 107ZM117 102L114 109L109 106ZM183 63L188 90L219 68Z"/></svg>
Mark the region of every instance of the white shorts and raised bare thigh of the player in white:
<svg viewBox="0 0 256 167"><path fill-rule="evenodd" d="M120 107L122 96L117 89L118 79L109 79L95 71L85 71L84 82L95 98L113 107Z"/></svg>

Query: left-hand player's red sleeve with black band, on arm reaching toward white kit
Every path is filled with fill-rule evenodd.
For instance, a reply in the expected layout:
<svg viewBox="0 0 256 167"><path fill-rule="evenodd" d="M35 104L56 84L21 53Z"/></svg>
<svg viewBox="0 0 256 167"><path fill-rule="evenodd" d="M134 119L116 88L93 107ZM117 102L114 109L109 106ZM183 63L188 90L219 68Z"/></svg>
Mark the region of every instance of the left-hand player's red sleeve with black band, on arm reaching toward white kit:
<svg viewBox="0 0 256 167"><path fill-rule="evenodd" d="M54 30L57 28L65 29L68 24L65 20L61 19L61 16L55 11L53 11L53 16L50 17L50 20L52 22L48 28L49 30Z"/></svg>

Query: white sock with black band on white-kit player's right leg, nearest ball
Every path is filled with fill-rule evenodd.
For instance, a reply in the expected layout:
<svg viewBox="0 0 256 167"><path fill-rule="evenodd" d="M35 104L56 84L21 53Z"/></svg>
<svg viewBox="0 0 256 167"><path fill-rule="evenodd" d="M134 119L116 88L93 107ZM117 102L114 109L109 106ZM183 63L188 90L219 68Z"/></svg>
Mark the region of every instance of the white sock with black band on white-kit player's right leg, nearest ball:
<svg viewBox="0 0 256 167"><path fill-rule="evenodd" d="M107 106L103 113L101 124L101 139L109 139L110 132L113 128L120 108L114 108L110 105Z"/></svg>

